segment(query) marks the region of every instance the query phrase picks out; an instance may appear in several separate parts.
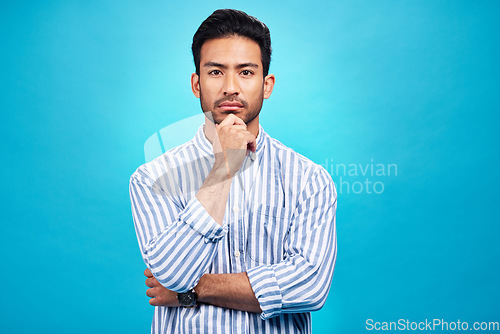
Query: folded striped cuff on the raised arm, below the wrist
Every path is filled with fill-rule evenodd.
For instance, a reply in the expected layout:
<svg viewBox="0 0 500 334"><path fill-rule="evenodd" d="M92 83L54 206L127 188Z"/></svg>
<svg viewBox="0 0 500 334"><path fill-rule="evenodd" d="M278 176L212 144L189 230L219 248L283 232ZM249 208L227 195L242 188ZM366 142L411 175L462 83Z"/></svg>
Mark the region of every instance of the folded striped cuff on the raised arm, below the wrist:
<svg viewBox="0 0 500 334"><path fill-rule="evenodd" d="M204 236L205 243L215 242L227 234L227 224L219 225L196 196L186 204L185 209L179 214L179 219Z"/></svg>

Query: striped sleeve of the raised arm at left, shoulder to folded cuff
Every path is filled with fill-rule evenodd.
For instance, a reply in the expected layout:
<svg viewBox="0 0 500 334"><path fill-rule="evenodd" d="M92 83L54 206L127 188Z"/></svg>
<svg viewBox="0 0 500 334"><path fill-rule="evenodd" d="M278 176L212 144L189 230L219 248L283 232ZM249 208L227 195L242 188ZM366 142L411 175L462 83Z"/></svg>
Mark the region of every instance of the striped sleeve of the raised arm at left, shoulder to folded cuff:
<svg viewBox="0 0 500 334"><path fill-rule="evenodd" d="M167 289L185 292L198 283L227 234L193 196L185 205L165 193L141 166L130 178L132 217L146 266Z"/></svg>

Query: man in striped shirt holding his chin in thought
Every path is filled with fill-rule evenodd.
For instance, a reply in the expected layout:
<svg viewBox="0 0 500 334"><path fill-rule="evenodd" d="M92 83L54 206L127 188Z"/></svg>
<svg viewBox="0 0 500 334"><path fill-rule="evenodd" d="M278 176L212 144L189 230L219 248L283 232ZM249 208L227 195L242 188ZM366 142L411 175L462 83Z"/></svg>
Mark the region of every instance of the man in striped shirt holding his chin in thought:
<svg viewBox="0 0 500 334"><path fill-rule="evenodd" d="M130 180L152 332L309 333L336 259L333 181L259 125L275 82L262 22L217 10L192 50L205 124Z"/></svg>

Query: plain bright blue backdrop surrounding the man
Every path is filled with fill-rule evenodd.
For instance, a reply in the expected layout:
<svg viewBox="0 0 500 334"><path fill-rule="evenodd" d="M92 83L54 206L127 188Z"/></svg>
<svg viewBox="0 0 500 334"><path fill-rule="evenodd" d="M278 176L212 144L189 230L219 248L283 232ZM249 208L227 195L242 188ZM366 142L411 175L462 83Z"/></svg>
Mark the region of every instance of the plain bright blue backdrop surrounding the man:
<svg viewBox="0 0 500 334"><path fill-rule="evenodd" d="M314 332L498 321L500 2L3 1L0 332L149 332L128 181L150 135L200 112L190 42L225 7L271 30L268 133L324 165L397 164L370 175L381 194L339 189Z"/></svg>

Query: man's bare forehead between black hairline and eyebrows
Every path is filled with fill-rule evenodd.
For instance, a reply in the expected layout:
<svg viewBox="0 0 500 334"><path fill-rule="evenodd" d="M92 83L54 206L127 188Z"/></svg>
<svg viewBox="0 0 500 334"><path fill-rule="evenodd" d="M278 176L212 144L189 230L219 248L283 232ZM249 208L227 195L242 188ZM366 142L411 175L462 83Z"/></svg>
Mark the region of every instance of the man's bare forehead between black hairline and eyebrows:
<svg viewBox="0 0 500 334"><path fill-rule="evenodd" d="M230 36L210 39L203 43L200 62L216 62L225 65L255 63L262 66L259 45L246 37Z"/></svg>

